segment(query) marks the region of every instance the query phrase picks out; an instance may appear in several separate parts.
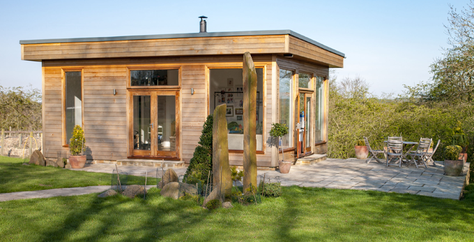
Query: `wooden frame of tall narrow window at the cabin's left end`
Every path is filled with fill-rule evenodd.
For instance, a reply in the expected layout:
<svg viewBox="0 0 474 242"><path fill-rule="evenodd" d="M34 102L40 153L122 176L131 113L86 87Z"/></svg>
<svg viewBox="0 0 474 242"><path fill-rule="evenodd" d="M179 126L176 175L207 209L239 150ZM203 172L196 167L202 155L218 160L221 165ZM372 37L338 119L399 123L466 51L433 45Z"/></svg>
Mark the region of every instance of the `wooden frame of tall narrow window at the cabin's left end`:
<svg viewBox="0 0 474 242"><path fill-rule="evenodd" d="M84 68L61 68L61 143L63 147L69 147L66 140L66 73L81 73L81 127L84 130Z"/></svg>

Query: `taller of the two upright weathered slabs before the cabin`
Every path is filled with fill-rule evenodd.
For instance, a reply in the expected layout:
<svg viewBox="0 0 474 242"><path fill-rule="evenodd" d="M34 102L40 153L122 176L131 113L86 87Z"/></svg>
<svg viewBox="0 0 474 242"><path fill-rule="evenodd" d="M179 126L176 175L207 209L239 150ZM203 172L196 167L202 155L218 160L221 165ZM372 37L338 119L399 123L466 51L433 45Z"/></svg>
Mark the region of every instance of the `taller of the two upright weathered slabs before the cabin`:
<svg viewBox="0 0 474 242"><path fill-rule="evenodd" d="M243 54L243 190L257 187L257 72L249 52Z"/></svg>

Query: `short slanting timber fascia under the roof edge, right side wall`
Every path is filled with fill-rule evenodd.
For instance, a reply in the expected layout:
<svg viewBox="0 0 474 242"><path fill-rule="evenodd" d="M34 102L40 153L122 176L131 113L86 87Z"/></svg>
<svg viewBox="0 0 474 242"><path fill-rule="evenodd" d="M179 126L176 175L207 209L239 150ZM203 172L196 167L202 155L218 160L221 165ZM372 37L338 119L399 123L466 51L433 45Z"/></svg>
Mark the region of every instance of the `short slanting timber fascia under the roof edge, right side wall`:
<svg viewBox="0 0 474 242"><path fill-rule="evenodd" d="M344 57L293 36L289 36L289 53L321 63L328 63L330 67L344 67Z"/></svg>

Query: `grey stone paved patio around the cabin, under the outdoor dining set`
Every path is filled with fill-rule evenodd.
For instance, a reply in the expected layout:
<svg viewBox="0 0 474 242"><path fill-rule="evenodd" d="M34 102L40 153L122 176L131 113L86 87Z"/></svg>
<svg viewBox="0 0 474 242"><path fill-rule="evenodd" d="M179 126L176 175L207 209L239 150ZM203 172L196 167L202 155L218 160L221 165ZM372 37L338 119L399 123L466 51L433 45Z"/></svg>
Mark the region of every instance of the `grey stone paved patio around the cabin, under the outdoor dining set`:
<svg viewBox="0 0 474 242"><path fill-rule="evenodd" d="M459 199L464 188L469 163L464 165L463 176L444 176L443 162L436 162L428 168L415 168L413 165L402 168L390 166L385 163L370 162L355 158L342 160L323 160L314 165L295 165L289 174L278 171L258 171L257 174L266 177L277 177L282 186L305 186L317 188L337 188L356 190L377 190L381 192L411 193L430 197ZM115 165L93 164L86 165L83 169L88 172L112 173ZM119 166L123 172L130 175L155 176L155 167ZM186 168L174 169L178 176L186 172Z"/></svg>

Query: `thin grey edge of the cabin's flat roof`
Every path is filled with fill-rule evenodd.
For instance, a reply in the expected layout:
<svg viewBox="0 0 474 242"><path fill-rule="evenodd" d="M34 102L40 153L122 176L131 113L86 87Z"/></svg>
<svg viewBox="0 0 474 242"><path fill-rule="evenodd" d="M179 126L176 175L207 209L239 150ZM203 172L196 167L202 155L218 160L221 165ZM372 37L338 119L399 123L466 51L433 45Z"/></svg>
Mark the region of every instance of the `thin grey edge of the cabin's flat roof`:
<svg viewBox="0 0 474 242"><path fill-rule="evenodd" d="M342 57L346 55L342 52L334 50L326 45L314 41L306 36L300 35L289 29L284 30L263 30L263 31L236 31L236 32L206 32L206 33L171 33L171 34L153 34L146 36L115 36L115 37L91 37L91 38L52 38L44 40L20 40L20 45L30 44L47 44L47 43L77 43L77 42L103 42L118 40L153 40L160 38L200 38L200 37L229 37L229 36L275 36L289 34L307 43L321 47L323 50L332 52Z"/></svg>

